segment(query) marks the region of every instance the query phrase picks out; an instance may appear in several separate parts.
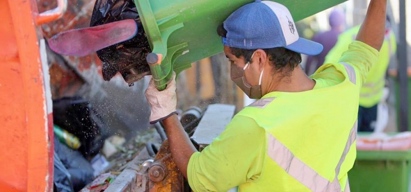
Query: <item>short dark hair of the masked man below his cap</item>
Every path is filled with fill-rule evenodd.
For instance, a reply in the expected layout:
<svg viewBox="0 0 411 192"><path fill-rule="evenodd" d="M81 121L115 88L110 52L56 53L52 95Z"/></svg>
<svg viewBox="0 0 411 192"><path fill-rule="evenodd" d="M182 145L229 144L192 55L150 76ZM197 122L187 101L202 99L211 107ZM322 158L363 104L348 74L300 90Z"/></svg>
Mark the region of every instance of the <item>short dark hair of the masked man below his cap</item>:
<svg viewBox="0 0 411 192"><path fill-rule="evenodd" d="M219 25L217 28L217 33L221 37L226 37L227 30L224 29L223 25ZM256 49L239 49L230 47L231 53L237 58L243 56L246 62L251 61L251 56ZM271 66L276 69L273 72L283 72L285 76L288 76L290 72L294 70L301 62L301 54L288 50L283 47L263 49L267 55L269 55Z"/></svg>

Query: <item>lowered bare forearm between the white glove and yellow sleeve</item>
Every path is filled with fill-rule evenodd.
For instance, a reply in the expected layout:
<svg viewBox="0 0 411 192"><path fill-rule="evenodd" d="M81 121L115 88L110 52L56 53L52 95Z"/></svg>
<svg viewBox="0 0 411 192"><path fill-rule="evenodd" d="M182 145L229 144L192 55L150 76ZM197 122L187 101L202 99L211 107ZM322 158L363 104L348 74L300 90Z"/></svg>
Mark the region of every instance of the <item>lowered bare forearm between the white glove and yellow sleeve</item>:
<svg viewBox="0 0 411 192"><path fill-rule="evenodd" d="M177 115L164 119L163 124L174 162L184 177L187 178L187 165L191 155L197 150L185 133Z"/></svg>

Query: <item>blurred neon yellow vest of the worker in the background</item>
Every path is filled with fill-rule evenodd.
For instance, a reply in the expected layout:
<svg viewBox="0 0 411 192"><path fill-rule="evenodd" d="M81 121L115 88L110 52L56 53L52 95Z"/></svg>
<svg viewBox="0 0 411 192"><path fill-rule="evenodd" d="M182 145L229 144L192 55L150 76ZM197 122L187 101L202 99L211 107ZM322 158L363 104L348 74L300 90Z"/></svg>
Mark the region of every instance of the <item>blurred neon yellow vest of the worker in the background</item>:
<svg viewBox="0 0 411 192"><path fill-rule="evenodd" d="M341 55L348 49L348 45L356 39L359 30L360 26L356 26L340 34L337 44L328 52L324 63L337 62ZM370 108L380 102L385 86L385 72L388 68L389 59L394 55L396 50L397 42L394 32L389 30L385 35L377 63L373 63L361 87L359 101L361 106Z"/></svg>

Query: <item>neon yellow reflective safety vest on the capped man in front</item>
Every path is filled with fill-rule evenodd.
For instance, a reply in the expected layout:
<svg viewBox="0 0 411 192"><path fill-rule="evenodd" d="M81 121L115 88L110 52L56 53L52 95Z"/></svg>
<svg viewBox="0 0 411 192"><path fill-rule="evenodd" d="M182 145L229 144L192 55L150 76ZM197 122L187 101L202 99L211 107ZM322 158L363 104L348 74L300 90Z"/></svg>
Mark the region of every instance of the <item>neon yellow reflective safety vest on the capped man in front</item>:
<svg viewBox="0 0 411 192"><path fill-rule="evenodd" d="M260 175L239 191L349 191L348 170L356 158L360 78L342 63L335 86L305 92L271 92L237 115L266 132Z"/></svg>

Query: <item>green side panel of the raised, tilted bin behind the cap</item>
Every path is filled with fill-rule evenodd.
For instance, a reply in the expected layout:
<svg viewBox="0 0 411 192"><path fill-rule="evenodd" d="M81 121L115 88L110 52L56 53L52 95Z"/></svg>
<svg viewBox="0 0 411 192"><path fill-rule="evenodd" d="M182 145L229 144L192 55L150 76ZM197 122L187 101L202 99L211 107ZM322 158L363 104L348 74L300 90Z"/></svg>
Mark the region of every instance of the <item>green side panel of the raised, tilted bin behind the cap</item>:
<svg viewBox="0 0 411 192"><path fill-rule="evenodd" d="M170 35L167 42L169 47L188 42L187 54L179 57L175 68L184 63L191 63L202 58L222 52L221 38L217 34L217 26L236 9L250 3L250 0L221 1L164 1L152 0L152 8L157 19L169 16L170 10L177 10L179 14L176 22L182 22L184 27ZM290 9L295 22L329 7L335 6L344 0L279 0ZM167 5L167 3L169 5ZM304 11L302 11L304 10ZM161 29L160 29L161 30Z"/></svg>

